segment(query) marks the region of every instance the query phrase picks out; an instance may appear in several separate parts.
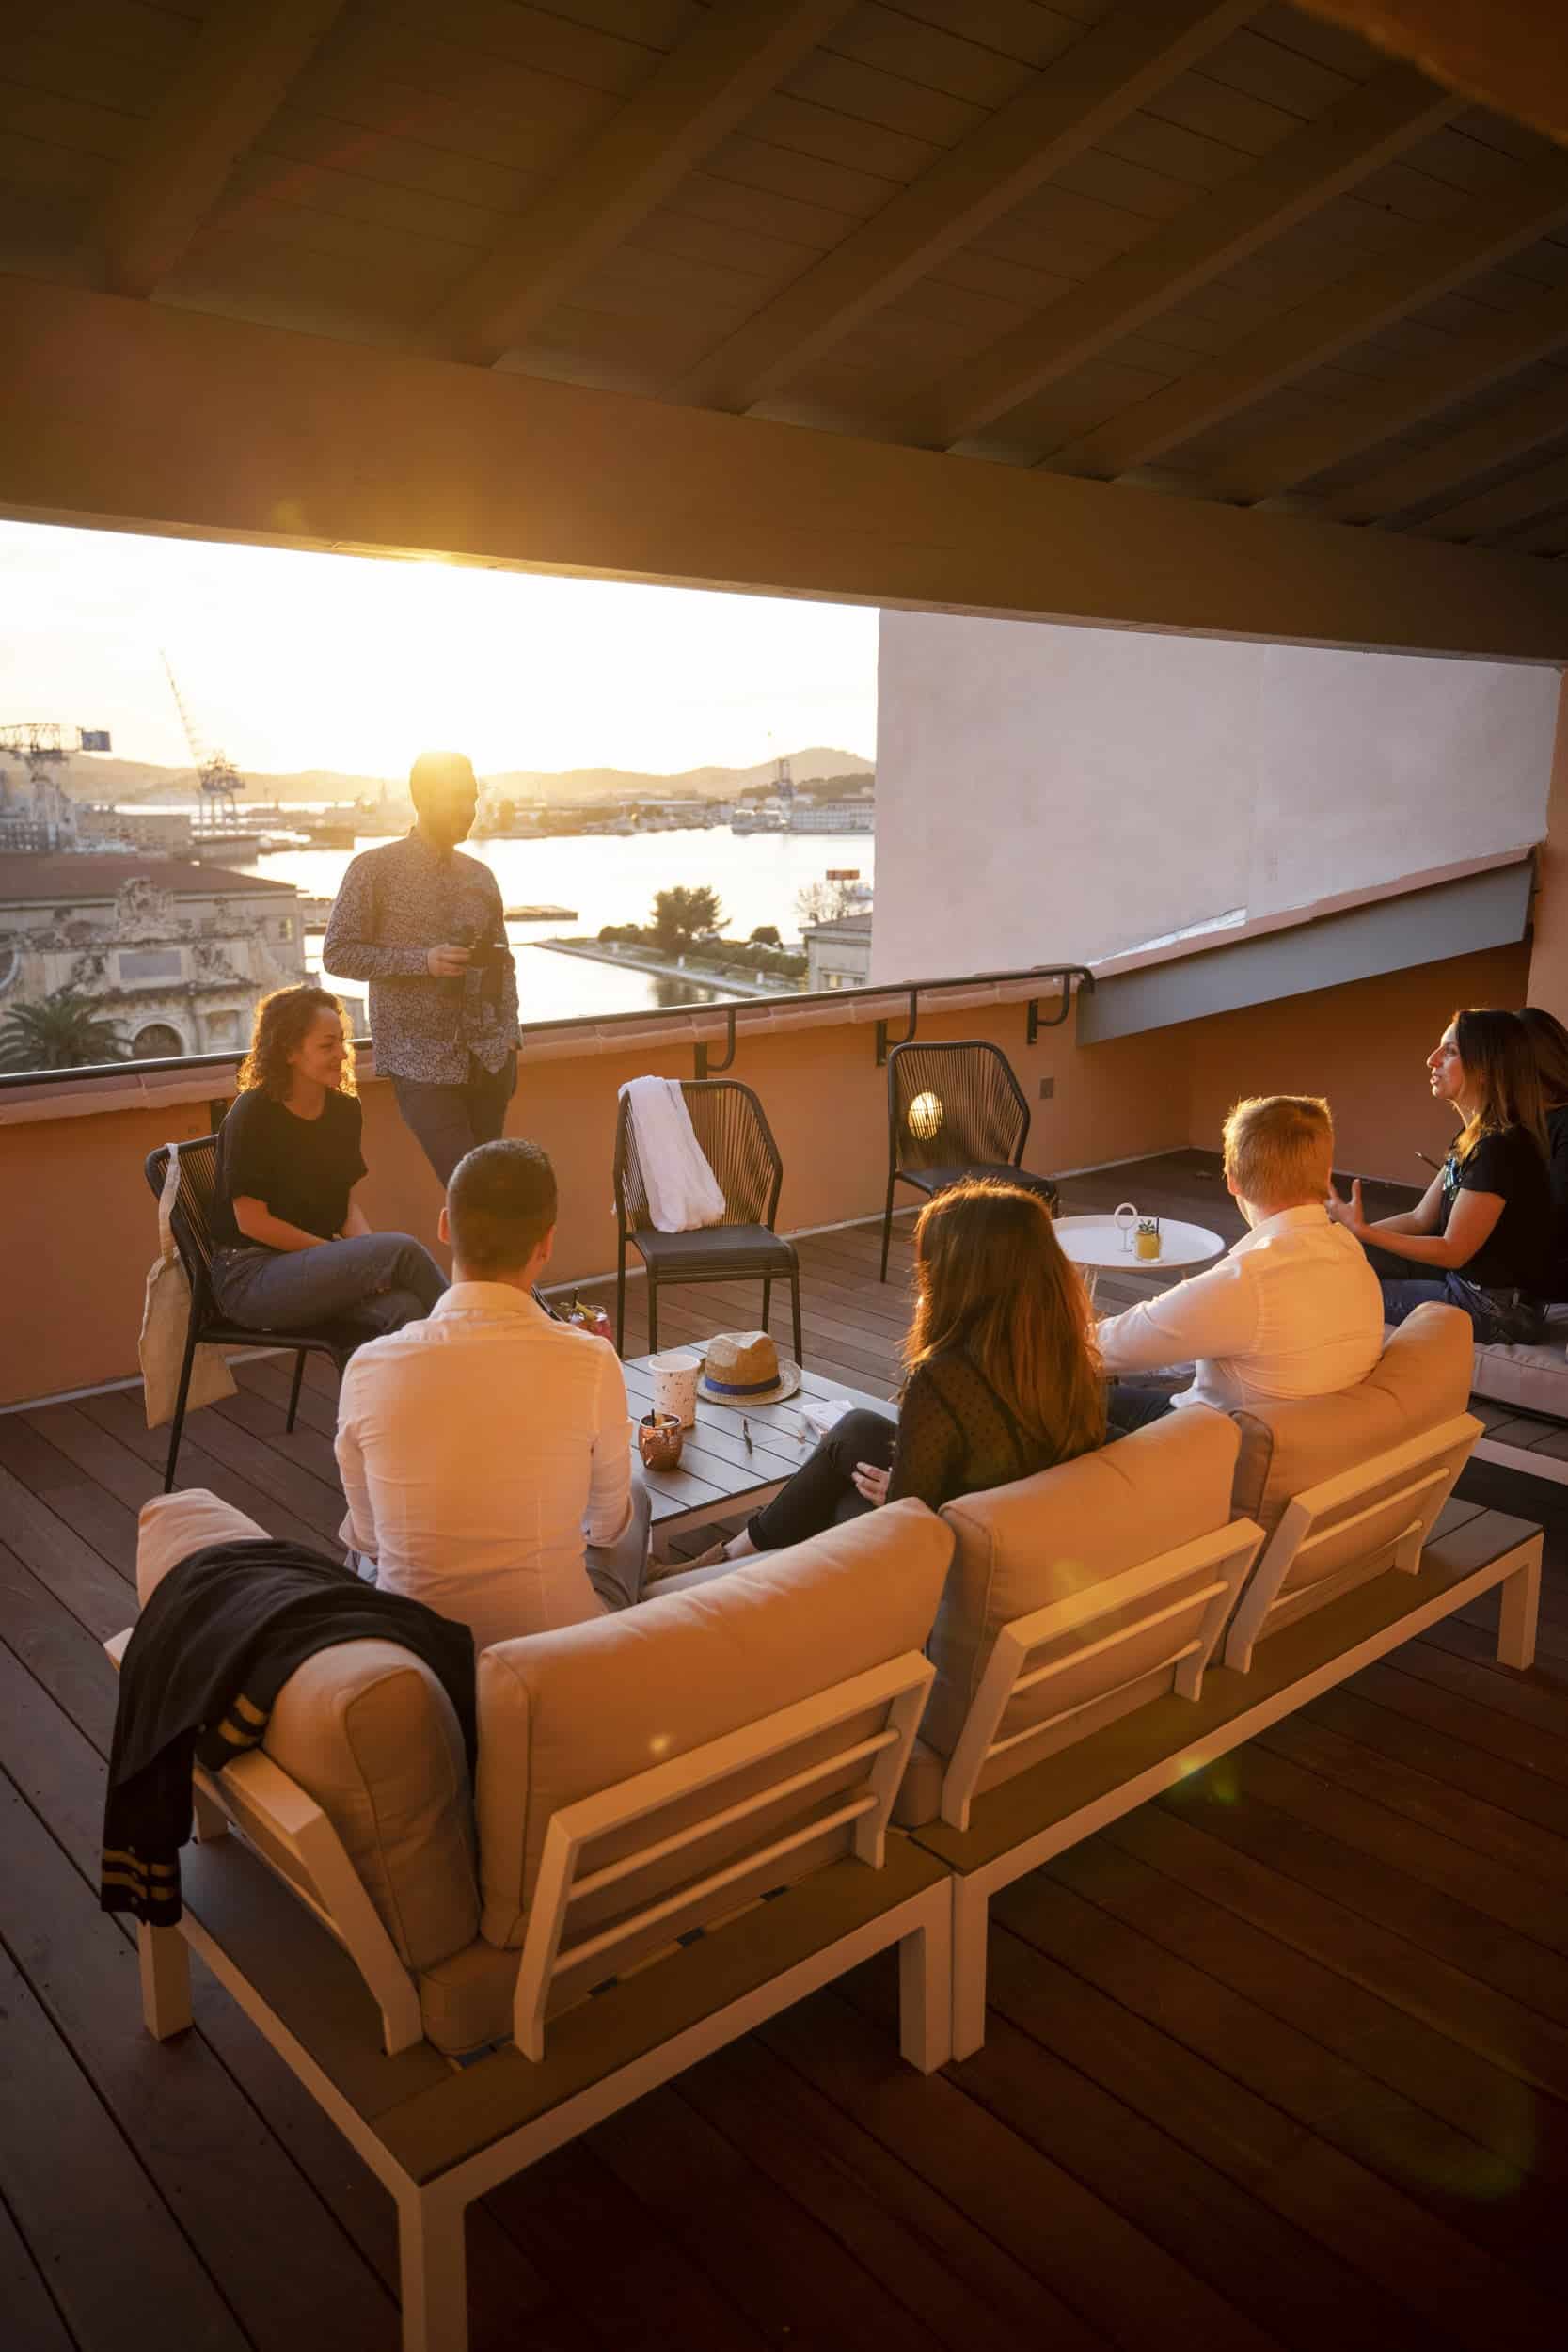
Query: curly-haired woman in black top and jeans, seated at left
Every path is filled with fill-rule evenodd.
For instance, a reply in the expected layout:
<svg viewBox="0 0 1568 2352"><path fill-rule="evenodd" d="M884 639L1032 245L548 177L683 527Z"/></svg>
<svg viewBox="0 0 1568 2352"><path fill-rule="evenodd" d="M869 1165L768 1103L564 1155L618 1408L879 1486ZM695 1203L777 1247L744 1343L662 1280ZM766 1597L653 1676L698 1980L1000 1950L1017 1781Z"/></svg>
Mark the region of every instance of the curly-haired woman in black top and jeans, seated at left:
<svg viewBox="0 0 1568 2352"><path fill-rule="evenodd" d="M343 1007L275 988L256 1007L240 1096L219 1129L212 1289L247 1331L341 1324L346 1348L428 1315L447 1279L407 1232L371 1232Z"/></svg>

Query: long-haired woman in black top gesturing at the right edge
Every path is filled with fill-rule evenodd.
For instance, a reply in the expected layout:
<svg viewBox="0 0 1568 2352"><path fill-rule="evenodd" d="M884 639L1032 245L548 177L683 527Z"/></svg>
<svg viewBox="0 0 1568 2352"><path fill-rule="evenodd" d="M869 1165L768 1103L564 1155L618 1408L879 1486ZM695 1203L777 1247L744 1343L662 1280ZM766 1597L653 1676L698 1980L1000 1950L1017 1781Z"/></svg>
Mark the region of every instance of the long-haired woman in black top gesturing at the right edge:
<svg viewBox="0 0 1568 2352"><path fill-rule="evenodd" d="M1425 1197L1368 1225L1356 1181L1349 1202L1331 1190L1328 1216L1375 1251L1389 1322L1439 1298L1469 1315L1479 1341L1533 1338L1554 1282L1556 1216L1523 1021L1493 1009L1455 1014L1427 1056L1427 1077L1462 1127ZM1399 1275L1389 1258L1401 1261Z"/></svg>

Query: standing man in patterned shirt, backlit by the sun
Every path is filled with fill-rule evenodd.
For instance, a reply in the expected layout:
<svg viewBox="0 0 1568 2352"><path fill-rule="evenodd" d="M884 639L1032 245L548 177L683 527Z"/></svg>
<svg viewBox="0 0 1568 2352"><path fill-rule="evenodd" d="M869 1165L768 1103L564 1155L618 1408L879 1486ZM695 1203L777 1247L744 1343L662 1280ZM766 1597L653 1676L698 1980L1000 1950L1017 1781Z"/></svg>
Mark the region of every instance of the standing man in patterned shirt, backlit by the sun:
<svg viewBox="0 0 1568 2352"><path fill-rule="evenodd" d="M494 1143L517 1084L517 967L489 866L458 856L480 802L473 764L425 750L409 771L414 830L362 851L331 908L322 967L369 981L376 1073L442 1185Z"/></svg>

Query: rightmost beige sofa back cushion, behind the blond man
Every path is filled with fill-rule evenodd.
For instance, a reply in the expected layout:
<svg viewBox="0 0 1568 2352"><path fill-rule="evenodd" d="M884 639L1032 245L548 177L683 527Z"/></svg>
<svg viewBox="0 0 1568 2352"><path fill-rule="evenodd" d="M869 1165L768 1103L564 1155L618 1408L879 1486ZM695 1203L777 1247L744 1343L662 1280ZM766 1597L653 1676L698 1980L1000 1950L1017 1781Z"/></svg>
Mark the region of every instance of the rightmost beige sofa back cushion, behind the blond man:
<svg viewBox="0 0 1568 2352"><path fill-rule="evenodd" d="M1237 1517L1272 1536L1291 1496L1453 1421L1465 1411L1476 1352L1486 1350L1472 1348L1469 1317L1432 1301L1389 1334L1382 1357L1354 1388L1234 1414Z"/></svg>

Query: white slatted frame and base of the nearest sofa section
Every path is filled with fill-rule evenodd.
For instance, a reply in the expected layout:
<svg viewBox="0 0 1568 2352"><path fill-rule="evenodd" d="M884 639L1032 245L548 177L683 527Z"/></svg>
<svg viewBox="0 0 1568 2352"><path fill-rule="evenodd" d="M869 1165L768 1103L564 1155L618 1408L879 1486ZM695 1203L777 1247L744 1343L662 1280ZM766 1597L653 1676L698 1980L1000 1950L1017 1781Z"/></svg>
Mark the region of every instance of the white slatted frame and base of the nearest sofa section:
<svg viewBox="0 0 1568 2352"><path fill-rule="evenodd" d="M115 1665L127 1639L106 1644ZM898 1945L900 2051L922 2072L945 2063L947 1872L903 1832L889 1835L931 1679L919 1653L893 1658L562 1806L529 1907L512 2039L463 2065L423 2039L418 1987L306 1790L261 1752L197 1771L197 1844L181 1867L186 1915L179 1926L136 1929L146 2027L162 2042L190 2025L195 1950L393 2192L404 2352L463 2352L468 2204L698 2058ZM867 1715L877 1724L877 1729L832 1743ZM809 1795L846 1766L863 1766L863 1780L835 1792L825 1816L562 1943L576 1896L663 1863L780 1795ZM658 1813L675 1802L696 1818L656 1835ZM649 1835L628 1849L639 1823ZM788 1870L799 1846L835 1825L849 1830L849 1856L762 1903L738 1903L698 1940L682 1940L545 2027L562 1969L602 1962L611 1978L616 1945L693 1900L722 1915L729 1884L755 1882L771 1860ZM230 1828L242 1839L228 1837ZM602 1860L607 1842L611 1858Z"/></svg>

